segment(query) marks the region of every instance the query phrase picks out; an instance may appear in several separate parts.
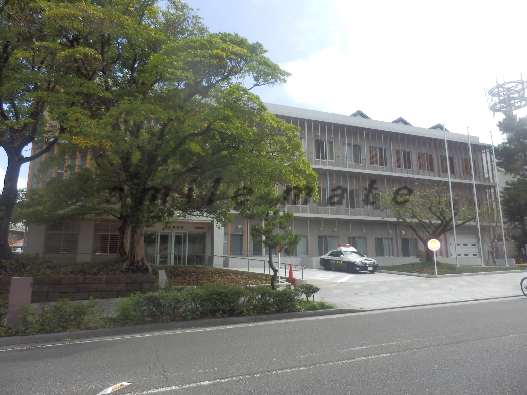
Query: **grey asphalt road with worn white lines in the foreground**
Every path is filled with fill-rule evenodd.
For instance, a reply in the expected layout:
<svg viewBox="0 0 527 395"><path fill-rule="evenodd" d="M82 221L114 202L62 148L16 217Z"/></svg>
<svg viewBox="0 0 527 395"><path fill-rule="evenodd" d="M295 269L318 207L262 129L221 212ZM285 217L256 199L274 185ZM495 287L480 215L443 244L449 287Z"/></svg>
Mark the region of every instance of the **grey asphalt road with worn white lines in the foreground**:
<svg viewBox="0 0 527 395"><path fill-rule="evenodd" d="M527 298L0 348L1 394L525 394Z"/></svg>

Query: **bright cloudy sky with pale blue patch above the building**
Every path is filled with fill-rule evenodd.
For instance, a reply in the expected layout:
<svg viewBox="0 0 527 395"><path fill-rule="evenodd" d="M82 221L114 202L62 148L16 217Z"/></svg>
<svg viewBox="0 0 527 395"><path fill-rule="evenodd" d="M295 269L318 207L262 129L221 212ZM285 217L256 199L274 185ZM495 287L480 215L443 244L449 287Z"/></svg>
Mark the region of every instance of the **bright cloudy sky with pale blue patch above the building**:
<svg viewBox="0 0 527 395"><path fill-rule="evenodd" d="M485 87L527 80L527 2L188 0L212 32L267 48L292 76L256 92L270 103L380 121L445 123L490 143L502 137ZM519 15L519 17L517 16ZM519 116L525 116L524 109ZM0 155L0 188L7 161ZM25 187L27 165L19 186Z"/></svg>

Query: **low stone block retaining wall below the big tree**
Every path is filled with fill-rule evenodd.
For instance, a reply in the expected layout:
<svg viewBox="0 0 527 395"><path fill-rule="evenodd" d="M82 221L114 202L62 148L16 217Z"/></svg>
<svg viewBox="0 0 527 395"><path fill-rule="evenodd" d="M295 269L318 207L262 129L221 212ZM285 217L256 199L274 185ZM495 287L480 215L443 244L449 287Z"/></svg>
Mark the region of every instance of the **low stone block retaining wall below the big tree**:
<svg viewBox="0 0 527 395"><path fill-rule="evenodd" d="M84 300L126 298L133 291L149 291L158 282L157 275L86 275L34 276L31 302L54 302L57 299ZM0 298L6 299L11 277L0 278Z"/></svg>

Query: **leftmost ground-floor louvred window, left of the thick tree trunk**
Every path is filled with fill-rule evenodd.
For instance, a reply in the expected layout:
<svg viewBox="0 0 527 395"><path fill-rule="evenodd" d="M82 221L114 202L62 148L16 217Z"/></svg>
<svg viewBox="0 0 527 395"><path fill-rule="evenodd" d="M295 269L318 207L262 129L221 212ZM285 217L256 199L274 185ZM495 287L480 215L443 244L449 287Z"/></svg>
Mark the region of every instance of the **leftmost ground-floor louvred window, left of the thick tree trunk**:
<svg viewBox="0 0 527 395"><path fill-rule="evenodd" d="M53 259L76 260L79 244L78 222L56 222L46 226L44 254L59 254Z"/></svg>

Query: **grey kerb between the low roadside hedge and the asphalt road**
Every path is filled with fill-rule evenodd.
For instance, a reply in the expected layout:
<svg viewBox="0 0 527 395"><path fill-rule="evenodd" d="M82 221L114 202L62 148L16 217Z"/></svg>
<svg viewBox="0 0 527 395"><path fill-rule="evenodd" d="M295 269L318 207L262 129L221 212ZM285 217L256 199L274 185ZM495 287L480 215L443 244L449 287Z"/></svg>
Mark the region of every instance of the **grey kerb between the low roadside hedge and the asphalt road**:
<svg viewBox="0 0 527 395"><path fill-rule="evenodd" d="M121 334L133 334L133 333L155 332L155 331L165 331L165 330L201 328L201 327L217 327L220 325L232 325L232 324L249 323L249 322L290 320L293 318L320 317L322 315L348 314L348 313L358 313L362 311L365 311L365 310L325 309L325 310L313 310L313 311L294 311L290 313L250 315L249 317L228 317L228 318L213 318L213 319L204 319L204 320L174 321L174 322L163 322L163 323L158 323L158 324L132 325L129 327L92 329L92 330L78 331L78 332L43 333L43 334L34 334L34 335L28 335L28 336L9 336L5 338L0 338L0 346L23 344L23 343L46 342L46 341L62 341L62 340L73 340L73 339L98 338L101 336L113 336L113 335L121 335Z"/></svg>

